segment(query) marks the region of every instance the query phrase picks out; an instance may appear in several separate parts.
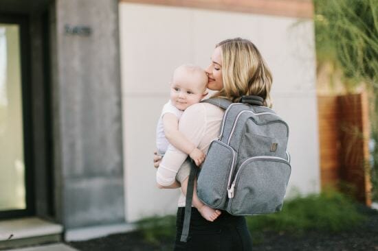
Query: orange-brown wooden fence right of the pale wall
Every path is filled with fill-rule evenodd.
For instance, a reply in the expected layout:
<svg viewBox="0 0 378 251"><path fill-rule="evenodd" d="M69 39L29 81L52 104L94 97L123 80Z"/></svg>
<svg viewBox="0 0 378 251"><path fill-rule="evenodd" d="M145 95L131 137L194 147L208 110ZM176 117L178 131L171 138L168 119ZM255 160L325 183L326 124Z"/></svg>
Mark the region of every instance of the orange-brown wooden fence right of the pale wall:
<svg viewBox="0 0 378 251"><path fill-rule="evenodd" d="M322 188L348 188L357 200L370 201L369 120L366 93L318 96Z"/></svg>

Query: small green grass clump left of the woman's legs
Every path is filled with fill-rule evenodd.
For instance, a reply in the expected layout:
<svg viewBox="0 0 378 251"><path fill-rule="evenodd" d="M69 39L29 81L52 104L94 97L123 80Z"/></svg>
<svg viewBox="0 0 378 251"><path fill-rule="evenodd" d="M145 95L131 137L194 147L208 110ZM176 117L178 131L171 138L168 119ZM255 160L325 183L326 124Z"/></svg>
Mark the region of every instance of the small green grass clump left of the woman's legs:
<svg viewBox="0 0 378 251"><path fill-rule="evenodd" d="M144 239L156 244L164 239L173 239L176 232L175 226L175 215L147 217L137 222L137 229L142 232Z"/></svg>

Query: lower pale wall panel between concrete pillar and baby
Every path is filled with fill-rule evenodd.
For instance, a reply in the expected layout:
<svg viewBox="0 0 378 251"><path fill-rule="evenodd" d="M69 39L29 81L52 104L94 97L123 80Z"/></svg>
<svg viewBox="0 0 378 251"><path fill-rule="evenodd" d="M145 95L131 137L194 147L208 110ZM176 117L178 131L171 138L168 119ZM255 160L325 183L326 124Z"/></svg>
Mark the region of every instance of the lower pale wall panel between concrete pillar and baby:
<svg viewBox="0 0 378 251"><path fill-rule="evenodd" d="M166 97L127 96L124 106L126 221L175 213L178 189L158 189L153 167L155 125Z"/></svg>

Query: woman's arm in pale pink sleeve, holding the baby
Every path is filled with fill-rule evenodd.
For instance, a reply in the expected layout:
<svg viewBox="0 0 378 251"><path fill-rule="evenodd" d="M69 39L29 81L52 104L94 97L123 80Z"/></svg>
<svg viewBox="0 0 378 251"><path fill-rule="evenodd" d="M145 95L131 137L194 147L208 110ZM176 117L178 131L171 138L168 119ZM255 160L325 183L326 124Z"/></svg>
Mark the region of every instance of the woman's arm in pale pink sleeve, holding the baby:
<svg viewBox="0 0 378 251"><path fill-rule="evenodd" d="M194 104L185 110L179 121L179 131L186 139L198 147L205 132L206 119L203 104ZM168 146L166 154L156 173L156 181L159 188L173 188L176 182L176 174L184 163L188 154L181 152L173 145Z"/></svg>

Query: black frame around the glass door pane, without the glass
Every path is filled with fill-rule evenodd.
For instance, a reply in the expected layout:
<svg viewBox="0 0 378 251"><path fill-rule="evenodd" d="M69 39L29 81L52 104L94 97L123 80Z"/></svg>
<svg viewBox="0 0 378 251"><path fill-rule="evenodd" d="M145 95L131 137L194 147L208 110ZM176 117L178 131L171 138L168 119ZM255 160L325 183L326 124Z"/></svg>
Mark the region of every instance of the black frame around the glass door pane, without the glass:
<svg viewBox="0 0 378 251"><path fill-rule="evenodd" d="M19 25L21 55L21 97L23 108L23 156L25 164L25 209L0 211L0 220L34 215L34 166L32 155L32 88L30 86L30 22L27 15L0 12L0 23Z"/></svg>

